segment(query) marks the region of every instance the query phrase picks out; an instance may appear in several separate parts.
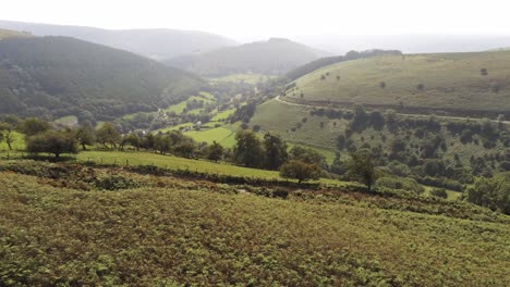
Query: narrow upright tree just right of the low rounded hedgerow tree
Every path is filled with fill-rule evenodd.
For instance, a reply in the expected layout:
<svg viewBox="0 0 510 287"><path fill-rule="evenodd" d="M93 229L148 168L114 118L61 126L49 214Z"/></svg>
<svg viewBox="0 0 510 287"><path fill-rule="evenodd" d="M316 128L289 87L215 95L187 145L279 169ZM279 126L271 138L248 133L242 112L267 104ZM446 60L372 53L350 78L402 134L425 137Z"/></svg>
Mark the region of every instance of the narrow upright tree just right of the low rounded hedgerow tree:
<svg viewBox="0 0 510 287"><path fill-rule="evenodd" d="M357 151L351 154L351 161L347 165L349 176L364 185L371 191L376 180L374 163L369 152Z"/></svg>

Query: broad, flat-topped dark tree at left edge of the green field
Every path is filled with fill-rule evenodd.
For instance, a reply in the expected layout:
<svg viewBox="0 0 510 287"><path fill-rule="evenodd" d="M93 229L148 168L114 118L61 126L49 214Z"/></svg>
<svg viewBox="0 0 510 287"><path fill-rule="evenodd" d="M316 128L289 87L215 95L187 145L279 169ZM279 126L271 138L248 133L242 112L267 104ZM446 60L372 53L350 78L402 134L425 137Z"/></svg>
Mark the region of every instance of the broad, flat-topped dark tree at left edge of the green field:
<svg viewBox="0 0 510 287"><path fill-rule="evenodd" d="M71 132L47 130L27 137L26 150L34 153L48 152L59 158L62 153L77 153L77 140Z"/></svg>

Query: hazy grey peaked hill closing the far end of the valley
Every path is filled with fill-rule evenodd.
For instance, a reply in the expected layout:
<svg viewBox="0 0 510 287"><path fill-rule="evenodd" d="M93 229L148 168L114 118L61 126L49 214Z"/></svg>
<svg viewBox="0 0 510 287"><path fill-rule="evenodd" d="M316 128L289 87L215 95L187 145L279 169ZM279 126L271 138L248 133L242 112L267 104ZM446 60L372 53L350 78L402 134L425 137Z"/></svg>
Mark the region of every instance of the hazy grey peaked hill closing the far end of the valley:
<svg viewBox="0 0 510 287"><path fill-rule="evenodd" d="M288 39L271 38L268 41L245 43L197 55L182 55L165 63L204 76L239 73L280 75L324 55L326 52L307 46Z"/></svg>

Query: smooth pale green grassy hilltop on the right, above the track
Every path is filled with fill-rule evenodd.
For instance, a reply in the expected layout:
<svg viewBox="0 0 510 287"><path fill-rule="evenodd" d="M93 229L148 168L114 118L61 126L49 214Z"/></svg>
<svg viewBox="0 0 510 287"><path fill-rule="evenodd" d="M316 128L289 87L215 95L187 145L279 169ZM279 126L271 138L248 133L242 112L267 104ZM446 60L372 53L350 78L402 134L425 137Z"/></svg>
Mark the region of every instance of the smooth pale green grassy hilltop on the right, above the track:
<svg viewBox="0 0 510 287"><path fill-rule="evenodd" d="M295 80L296 87L288 90L287 98L315 103L403 105L427 112L497 113L510 109L509 64L510 51L375 57L305 75ZM487 70L487 75L482 75L482 68Z"/></svg>

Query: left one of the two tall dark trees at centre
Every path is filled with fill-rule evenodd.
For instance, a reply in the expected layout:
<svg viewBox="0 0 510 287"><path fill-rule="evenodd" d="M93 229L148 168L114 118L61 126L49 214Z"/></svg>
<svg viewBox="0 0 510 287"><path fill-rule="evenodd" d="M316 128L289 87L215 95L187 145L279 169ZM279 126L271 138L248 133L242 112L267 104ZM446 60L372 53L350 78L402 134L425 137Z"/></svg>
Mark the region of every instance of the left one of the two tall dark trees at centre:
<svg viewBox="0 0 510 287"><path fill-rule="evenodd" d="M234 162L247 167L260 167L264 164L264 149L255 133L240 130L235 134Z"/></svg>

